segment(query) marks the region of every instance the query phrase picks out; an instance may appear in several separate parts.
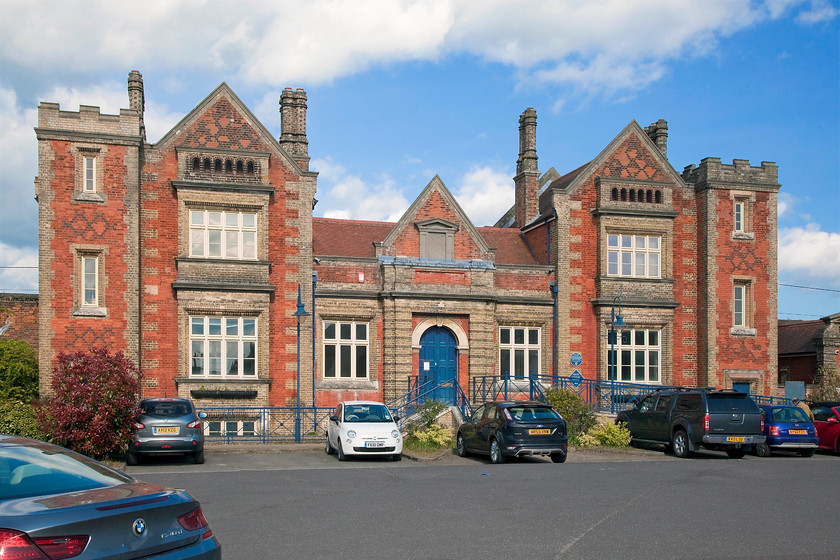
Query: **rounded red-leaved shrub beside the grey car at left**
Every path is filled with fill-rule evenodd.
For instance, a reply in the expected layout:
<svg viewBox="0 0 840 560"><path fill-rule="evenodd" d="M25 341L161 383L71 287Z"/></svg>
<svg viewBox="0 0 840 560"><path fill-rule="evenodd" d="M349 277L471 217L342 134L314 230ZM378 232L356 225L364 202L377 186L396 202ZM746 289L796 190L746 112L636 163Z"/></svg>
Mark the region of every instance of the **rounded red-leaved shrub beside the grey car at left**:
<svg viewBox="0 0 840 560"><path fill-rule="evenodd" d="M91 457L125 450L139 414L141 377L122 352L59 354L53 394L41 414L44 430L56 443Z"/></svg>

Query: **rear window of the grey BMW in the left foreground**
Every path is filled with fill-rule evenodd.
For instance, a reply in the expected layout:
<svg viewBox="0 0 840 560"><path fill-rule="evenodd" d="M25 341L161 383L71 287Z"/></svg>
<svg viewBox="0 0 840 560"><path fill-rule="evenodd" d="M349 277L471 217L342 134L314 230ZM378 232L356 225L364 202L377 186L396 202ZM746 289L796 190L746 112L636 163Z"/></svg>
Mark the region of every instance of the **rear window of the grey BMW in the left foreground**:
<svg viewBox="0 0 840 560"><path fill-rule="evenodd" d="M106 488L133 481L59 447L0 447L0 501Z"/></svg>

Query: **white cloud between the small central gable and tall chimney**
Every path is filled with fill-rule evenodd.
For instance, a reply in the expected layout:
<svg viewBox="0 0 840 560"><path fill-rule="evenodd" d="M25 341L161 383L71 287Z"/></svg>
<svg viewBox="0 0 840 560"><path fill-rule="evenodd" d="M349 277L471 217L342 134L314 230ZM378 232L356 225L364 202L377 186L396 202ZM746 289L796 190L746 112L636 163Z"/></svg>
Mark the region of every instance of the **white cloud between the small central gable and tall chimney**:
<svg viewBox="0 0 840 560"><path fill-rule="evenodd" d="M476 226L493 225L513 206L514 187L509 173L490 167L472 167L452 193Z"/></svg>

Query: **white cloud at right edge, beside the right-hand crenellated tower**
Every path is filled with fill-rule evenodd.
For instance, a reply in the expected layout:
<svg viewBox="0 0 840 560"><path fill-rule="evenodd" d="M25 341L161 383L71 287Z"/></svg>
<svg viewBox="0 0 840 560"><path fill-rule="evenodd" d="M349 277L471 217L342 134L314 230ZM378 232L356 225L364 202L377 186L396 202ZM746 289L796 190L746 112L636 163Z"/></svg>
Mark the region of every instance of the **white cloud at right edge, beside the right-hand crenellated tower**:
<svg viewBox="0 0 840 560"><path fill-rule="evenodd" d="M818 287L840 288L840 233L816 224L779 229L779 277L811 280Z"/></svg>

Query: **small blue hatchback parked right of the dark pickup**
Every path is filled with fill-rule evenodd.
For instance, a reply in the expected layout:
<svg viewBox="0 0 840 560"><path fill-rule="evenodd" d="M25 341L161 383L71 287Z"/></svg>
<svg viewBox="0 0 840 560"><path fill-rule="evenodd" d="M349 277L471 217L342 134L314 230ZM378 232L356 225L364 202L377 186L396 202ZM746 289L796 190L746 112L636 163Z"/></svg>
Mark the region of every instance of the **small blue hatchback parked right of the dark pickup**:
<svg viewBox="0 0 840 560"><path fill-rule="evenodd" d="M817 450L819 439L814 423L801 408L791 405L759 405L764 415L764 435L767 440L756 444L759 457L769 457L773 451L796 451L811 457Z"/></svg>

